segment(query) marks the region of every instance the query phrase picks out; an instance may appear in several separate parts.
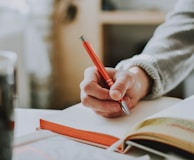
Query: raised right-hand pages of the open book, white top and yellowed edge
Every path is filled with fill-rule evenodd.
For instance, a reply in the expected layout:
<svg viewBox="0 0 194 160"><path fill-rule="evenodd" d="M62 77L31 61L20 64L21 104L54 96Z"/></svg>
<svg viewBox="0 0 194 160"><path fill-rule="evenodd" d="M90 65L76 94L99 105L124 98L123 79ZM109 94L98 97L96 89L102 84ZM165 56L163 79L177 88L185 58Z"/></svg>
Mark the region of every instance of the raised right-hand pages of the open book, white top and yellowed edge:
<svg viewBox="0 0 194 160"><path fill-rule="evenodd" d="M148 139L194 153L194 96L141 122L126 139Z"/></svg>

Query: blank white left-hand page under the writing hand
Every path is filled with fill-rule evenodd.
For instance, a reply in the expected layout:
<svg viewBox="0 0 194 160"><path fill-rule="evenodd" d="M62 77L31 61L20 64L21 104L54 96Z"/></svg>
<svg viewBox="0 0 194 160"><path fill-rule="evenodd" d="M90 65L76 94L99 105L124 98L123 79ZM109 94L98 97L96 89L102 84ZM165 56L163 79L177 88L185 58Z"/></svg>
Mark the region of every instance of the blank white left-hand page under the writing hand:
<svg viewBox="0 0 194 160"><path fill-rule="evenodd" d="M131 110L129 116L118 118L104 118L94 113L91 109L82 106L82 104L77 104L55 115L42 117L42 119L76 129L122 138L127 130L132 129L144 118L168 108L179 101L181 100L170 97L141 101Z"/></svg>

